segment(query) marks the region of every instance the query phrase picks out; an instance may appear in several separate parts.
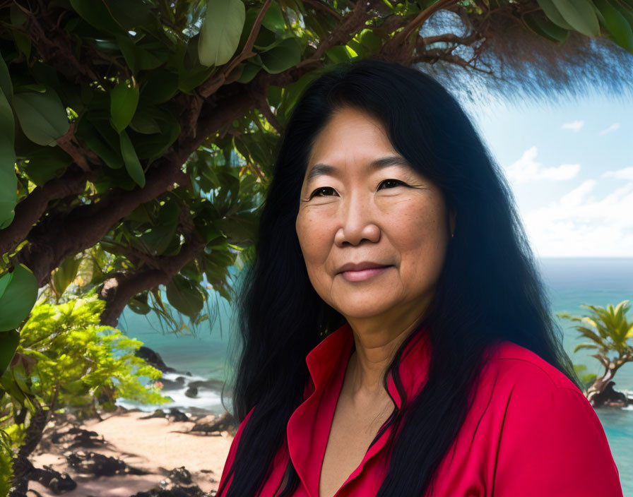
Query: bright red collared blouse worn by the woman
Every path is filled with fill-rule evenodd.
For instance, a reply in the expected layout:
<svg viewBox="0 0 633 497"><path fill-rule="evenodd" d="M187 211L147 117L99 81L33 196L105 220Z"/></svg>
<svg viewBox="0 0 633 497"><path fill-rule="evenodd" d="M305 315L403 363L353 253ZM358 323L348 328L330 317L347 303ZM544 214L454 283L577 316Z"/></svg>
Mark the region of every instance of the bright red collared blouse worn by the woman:
<svg viewBox="0 0 633 497"><path fill-rule="evenodd" d="M283 489L289 455L300 477L292 497L319 497L321 465L353 344L353 332L345 323L307 354L311 381L305 400L288 420L285 444L259 497L273 497ZM422 389L429 358L430 341L422 333L420 340L409 342L400 364L408 399ZM622 497L601 422L567 376L530 350L503 342L493 350L482 378L427 497ZM399 407L391 375L388 385ZM239 424L220 484L251 413ZM367 450L336 497L376 495L386 475L381 461L390 430Z"/></svg>

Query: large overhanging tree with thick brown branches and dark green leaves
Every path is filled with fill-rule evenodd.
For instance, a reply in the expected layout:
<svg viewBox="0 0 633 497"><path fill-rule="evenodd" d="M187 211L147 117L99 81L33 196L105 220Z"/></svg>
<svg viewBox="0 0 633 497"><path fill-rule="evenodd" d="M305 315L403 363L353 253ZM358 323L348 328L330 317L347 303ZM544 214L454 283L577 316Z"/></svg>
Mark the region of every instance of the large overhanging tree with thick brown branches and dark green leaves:
<svg viewBox="0 0 633 497"><path fill-rule="evenodd" d="M161 285L192 320L205 279L231 298L279 137L331 64L419 64L473 98L632 80L632 0L2 0L0 21L0 270L59 299L81 266L113 326L164 308Z"/></svg>

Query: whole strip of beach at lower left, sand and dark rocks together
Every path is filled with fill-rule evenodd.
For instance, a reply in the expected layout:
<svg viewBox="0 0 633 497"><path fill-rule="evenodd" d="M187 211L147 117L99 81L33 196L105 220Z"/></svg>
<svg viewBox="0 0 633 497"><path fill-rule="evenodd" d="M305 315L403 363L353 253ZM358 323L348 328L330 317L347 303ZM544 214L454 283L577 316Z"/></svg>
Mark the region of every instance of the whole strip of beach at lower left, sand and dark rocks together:
<svg viewBox="0 0 633 497"><path fill-rule="evenodd" d="M177 409L118 407L81 422L56 413L30 457L28 496L211 497L236 429L230 414Z"/></svg>

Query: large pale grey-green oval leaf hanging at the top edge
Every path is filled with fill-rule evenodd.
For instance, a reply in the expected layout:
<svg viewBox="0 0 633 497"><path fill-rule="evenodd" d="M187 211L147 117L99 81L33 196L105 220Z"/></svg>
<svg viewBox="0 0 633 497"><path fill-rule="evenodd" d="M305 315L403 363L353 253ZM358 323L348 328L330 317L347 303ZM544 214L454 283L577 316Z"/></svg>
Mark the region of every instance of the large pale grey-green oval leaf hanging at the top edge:
<svg viewBox="0 0 633 497"><path fill-rule="evenodd" d="M245 16L242 0L208 1L198 39L200 64L221 66L231 59L242 35Z"/></svg>

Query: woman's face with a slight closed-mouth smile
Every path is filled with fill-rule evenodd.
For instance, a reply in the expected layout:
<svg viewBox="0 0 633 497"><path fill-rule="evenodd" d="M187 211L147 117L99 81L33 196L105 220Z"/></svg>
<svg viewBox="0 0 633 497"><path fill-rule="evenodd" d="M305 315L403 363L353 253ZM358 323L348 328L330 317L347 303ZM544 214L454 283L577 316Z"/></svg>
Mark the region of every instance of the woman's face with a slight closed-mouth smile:
<svg viewBox="0 0 633 497"><path fill-rule="evenodd" d="M447 220L442 192L394 150L380 121L339 109L314 143L295 223L321 299L345 318L419 317L454 230L454 215ZM350 263L383 268L341 272Z"/></svg>

